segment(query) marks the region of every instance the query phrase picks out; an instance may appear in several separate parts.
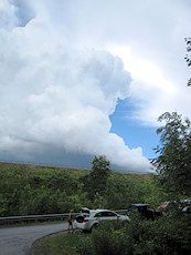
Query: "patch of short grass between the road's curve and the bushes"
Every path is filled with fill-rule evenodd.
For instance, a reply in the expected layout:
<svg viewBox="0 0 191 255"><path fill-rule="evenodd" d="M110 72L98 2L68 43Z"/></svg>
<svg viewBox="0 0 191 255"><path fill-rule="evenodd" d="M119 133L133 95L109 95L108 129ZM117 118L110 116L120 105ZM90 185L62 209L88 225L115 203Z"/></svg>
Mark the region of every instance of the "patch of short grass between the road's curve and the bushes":
<svg viewBox="0 0 191 255"><path fill-rule="evenodd" d="M33 255L77 255L76 244L82 233L74 231L73 233L60 232L45 236L33 244Z"/></svg>

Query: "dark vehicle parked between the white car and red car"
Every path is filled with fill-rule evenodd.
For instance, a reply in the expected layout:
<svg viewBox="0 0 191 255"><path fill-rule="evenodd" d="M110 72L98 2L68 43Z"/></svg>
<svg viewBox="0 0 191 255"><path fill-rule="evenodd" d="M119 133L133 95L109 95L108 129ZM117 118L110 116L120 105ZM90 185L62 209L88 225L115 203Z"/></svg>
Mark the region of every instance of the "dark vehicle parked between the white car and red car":
<svg viewBox="0 0 191 255"><path fill-rule="evenodd" d="M161 216L162 213L150 207L150 204L131 204L127 216L130 216L131 213L139 212L147 220L155 220L158 216Z"/></svg>

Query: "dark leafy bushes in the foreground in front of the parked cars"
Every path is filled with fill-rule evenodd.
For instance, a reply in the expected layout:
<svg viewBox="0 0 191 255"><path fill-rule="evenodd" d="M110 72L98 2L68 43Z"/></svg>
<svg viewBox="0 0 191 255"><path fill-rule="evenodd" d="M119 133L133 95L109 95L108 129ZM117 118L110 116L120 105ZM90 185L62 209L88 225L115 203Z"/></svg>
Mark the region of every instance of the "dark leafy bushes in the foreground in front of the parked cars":
<svg viewBox="0 0 191 255"><path fill-rule="evenodd" d="M77 253L110 255L190 254L190 217L179 211L157 221L144 221L135 213L130 222L105 222L78 242ZM89 247L89 249L88 249ZM87 251L88 249L88 251Z"/></svg>

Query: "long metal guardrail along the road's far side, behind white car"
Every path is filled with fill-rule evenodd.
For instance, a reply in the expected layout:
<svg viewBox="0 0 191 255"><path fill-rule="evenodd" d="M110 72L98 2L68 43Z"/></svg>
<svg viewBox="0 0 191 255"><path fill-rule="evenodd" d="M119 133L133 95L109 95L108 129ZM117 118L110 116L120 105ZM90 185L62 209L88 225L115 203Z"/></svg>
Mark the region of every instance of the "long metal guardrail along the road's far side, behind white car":
<svg viewBox="0 0 191 255"><path fill-rule="evenodd" d="M127 213L127 210L117 210L116 213ZM73 213L72 215L76 217L81 213ZM47 221L47 220L64 220L68 217L67 214L46 214L46 215L26 215L26 216L9 216L0 217L0 223L9 222L30 222L30 221Z"/></svg>

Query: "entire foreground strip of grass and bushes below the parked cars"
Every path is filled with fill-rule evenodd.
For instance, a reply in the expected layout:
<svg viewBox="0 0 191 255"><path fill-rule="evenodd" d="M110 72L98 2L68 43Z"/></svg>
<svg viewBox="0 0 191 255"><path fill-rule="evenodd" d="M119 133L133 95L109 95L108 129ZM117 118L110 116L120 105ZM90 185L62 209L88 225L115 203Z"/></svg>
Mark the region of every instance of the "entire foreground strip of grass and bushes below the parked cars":
<svg viewBox="0 0 191 255"><path fill-rule="evenodd" d="M189 255L189 215L171 211L157 221L134 214L130 222L105 222L89 234L74 231L39 241L34 255Z"/></svg>

